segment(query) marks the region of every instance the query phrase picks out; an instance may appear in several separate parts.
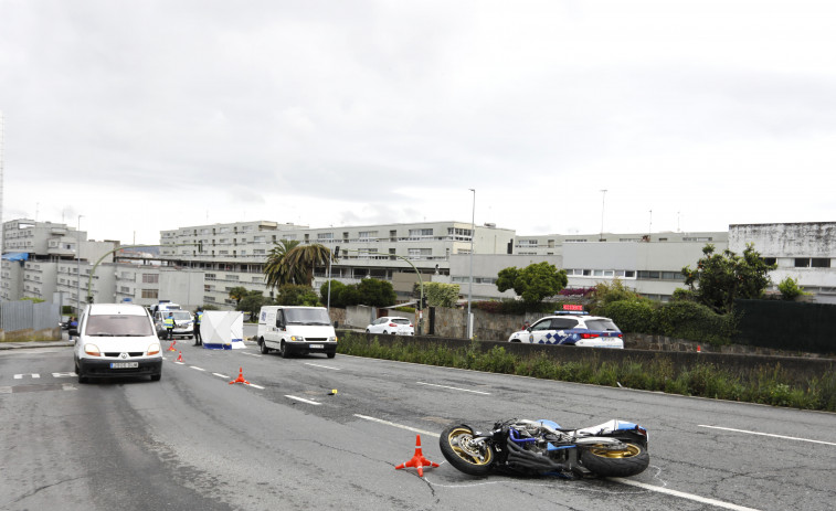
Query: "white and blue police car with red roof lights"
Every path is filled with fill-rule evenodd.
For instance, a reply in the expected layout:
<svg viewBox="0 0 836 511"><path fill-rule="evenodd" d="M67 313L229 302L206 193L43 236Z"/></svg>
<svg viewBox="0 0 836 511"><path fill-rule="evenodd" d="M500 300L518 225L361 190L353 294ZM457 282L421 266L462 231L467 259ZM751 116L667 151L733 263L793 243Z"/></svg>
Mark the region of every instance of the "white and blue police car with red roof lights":
<svg viewBox="0 0 836 511"><path fill-rule="evenodd" d="M558 315L537 320L511 333L508 342L624 348L624 336L612 319L601 316Z"/></svg>

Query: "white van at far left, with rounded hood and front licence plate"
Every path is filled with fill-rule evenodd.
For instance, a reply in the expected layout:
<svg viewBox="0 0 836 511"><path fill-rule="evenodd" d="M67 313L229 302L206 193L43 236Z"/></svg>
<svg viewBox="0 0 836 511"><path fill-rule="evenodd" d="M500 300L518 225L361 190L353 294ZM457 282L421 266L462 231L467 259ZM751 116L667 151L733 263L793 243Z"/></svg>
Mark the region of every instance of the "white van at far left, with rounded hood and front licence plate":
<svg viewBox="0 0 836 511"><path fill-rule="evenodd" d="M91 304L78 318L73 348L78 383L91 377L162 376L162 350L145 307Z"/></svg>

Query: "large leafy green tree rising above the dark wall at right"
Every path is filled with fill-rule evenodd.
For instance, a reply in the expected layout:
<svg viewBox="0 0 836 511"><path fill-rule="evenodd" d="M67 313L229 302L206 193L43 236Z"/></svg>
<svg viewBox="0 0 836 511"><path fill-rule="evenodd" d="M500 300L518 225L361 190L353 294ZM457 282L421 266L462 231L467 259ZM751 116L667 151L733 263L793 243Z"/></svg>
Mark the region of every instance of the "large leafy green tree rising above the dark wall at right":
<svg viewBox="0 0 836 511"><path fill-rule="evenodd" d="M737 298L763 296L771 281L769 272L775 269L775 265L768 265L751 243L747 244L742 256L728 248L717 254L710 243L702 247L702 254L696 270L690 266L682 268L685 284L700 304L720 313L731 312Z"/></svg>

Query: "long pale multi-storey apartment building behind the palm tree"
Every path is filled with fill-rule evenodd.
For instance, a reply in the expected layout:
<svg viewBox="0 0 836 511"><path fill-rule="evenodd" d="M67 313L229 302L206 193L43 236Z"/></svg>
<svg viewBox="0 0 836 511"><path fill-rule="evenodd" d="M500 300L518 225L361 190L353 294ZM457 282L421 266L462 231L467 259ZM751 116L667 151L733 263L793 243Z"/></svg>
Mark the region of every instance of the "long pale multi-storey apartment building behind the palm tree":
<svg viewBox="0 0 836 511"><path fill-rule="evenodd" d="M321 244L339 258L330 277L356 284L371 277L390 280L403 298L412 292L421 274L423 281L449 274L449 258L476 253L507 254L514 231L494 224L476 226L463 222L422 222L309 228L277 222L240 222L197 225L162 231L160 257L169 263L202 269L207 304L232 305L229 291L242 286L271 292L264 284L264 264L282 239ZM314 286L327 281L328 268L316 268Z"/></svg>

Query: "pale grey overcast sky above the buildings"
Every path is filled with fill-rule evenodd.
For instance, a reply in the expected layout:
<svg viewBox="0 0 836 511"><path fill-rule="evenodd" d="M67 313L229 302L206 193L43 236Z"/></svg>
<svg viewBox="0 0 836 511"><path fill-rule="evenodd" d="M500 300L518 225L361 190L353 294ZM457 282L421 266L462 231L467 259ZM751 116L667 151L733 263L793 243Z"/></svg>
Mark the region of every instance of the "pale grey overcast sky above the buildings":
<svg viewBox="0 0 836 511"><path fill-rule="evenodd" d="M833 0L0 0L3 221L836 221ZM602 190L607 190L603 193Z"/></svg>

